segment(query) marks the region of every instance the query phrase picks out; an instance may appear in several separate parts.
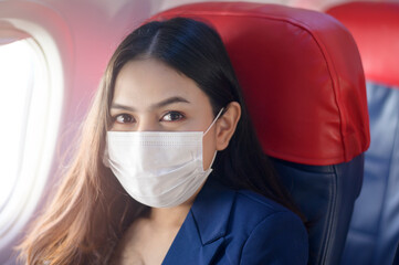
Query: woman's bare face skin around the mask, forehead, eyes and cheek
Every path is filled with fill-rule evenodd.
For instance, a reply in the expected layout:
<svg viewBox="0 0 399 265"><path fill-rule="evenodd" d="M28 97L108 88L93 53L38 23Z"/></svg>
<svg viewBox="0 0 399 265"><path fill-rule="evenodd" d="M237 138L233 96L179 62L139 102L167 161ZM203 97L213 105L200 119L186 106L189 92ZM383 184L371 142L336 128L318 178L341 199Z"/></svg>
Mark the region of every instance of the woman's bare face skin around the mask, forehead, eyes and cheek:
<svg viewBox="0 0 399 265"><path fill-rule="evenodd" d="M206 131L214 118L192 80L154 59L123 66L109 112L111 129L119 131ZM203 169L217 150L217 124L203 137Z"/></svg>

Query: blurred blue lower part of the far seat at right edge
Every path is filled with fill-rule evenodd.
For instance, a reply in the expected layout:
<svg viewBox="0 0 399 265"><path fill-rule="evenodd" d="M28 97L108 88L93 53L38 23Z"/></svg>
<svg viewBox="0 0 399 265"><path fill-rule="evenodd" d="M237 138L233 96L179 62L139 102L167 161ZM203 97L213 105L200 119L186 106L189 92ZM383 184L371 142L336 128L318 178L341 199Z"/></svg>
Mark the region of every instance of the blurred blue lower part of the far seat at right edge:
<svg viewBox="0 0 399 265"><path fill-rule="evenodd" d="M367 83L371 145L342 265L391 265L399 241L399 89Z"/></svg>

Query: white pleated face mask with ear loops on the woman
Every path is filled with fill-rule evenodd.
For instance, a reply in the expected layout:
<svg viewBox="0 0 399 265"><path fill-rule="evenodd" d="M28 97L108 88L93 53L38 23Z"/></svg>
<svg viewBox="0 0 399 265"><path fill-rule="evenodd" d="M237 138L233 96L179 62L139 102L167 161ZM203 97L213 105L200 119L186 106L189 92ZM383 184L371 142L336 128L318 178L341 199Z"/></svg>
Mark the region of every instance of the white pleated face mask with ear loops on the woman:
<svg viewBox="0 0 399 265"><path fill-rule="evenodd" d="M203 170L202 131L107 131L104 165L127 193L153 208L177 206L190 199L211 173Z"/></svg>

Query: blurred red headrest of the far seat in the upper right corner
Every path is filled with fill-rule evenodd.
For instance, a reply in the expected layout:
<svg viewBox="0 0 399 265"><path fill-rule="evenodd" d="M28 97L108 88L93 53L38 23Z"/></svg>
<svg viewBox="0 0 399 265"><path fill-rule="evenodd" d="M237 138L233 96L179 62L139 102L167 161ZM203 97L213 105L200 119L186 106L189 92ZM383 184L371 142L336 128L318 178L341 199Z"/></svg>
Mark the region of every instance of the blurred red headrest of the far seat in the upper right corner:
<svg viewBox="0 0 399 265"><path fill-rule="evenodd" d="M366 78L399 86L399 2L353 2L327 13L354 35Z"/></svg>

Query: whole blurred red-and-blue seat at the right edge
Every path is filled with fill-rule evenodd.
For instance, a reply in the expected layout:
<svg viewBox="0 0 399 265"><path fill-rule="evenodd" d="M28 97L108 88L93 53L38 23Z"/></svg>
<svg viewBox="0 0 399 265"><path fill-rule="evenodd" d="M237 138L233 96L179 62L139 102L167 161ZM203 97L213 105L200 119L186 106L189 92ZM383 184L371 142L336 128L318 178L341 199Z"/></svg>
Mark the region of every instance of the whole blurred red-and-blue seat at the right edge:
<svg viewBox="0 0 399 265"><path fill-rule="evenodd" d="M399 3L353 2L327 13L359 47L371 134L342 264L392 264L399 241Z"/></svg>

